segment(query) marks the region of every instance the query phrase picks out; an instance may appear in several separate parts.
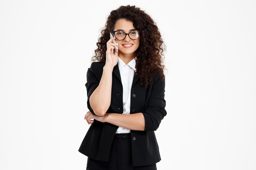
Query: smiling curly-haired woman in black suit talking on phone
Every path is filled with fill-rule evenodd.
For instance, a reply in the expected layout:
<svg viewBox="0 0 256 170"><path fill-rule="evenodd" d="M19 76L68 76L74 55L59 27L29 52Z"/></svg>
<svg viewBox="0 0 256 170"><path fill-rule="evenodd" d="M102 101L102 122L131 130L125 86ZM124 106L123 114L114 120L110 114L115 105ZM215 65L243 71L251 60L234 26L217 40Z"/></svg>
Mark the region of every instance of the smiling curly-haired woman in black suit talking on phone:
<svg viewBox="0 0 256 170"><path fill-rule="evenodd" d="M79 148L87 170L157 170L154 131L166 116L161 34L144 11L121 6L111 11L97 46L85 84L91 125Z"/></svg>

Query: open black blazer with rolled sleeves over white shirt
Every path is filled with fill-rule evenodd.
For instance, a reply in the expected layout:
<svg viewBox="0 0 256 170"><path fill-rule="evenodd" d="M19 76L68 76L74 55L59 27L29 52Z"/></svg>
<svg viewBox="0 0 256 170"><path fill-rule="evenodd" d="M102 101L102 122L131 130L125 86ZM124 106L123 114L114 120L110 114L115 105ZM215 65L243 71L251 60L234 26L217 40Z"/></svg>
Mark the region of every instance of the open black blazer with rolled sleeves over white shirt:
<svg viewBox="0 0 256 170"><path fill-rule="evenodd" d="M85 84L88 96L87 106L92 113L94 112L89 99L92 92L99 86L104 65L105 62L93 62L87 71ZM146 89L139 84L139 77L133 77L130 114L143 113L145 130L131 130L132 166L149 165L161 160L154 130L157 130L161 120L166 116L165 81L156 83L155 79L156 77ZM118 64L112 72L111 104L106 113L123 113L123 86ZM92 159L108 161L117 128L116 125L94 119L78 151Z"/></svg>

